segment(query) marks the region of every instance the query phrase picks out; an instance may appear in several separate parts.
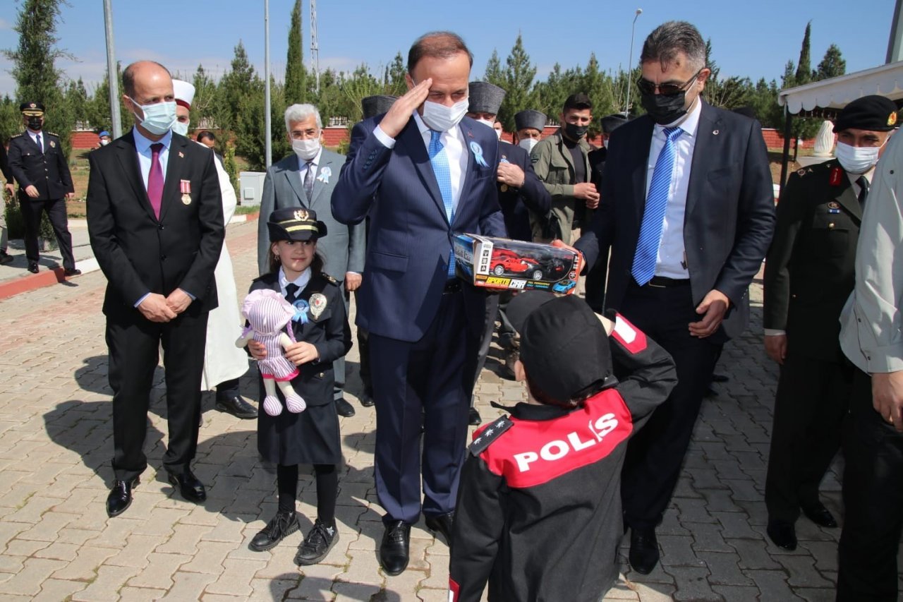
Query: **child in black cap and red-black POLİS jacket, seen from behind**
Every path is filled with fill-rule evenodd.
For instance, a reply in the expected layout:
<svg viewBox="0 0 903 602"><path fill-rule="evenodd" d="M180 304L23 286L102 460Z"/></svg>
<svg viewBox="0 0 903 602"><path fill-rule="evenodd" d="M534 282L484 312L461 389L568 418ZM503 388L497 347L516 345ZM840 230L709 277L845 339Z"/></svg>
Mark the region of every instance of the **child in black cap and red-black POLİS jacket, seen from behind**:
<svg viewBox="0 0 903 602"><path fill-rule="evenodd" d="M674 388L675 364L623 317L576 296L526 291L507 315L528 401L473 435L449 599L479 602L489 582L492 602L596 602L618 578L628 439Z"/></svg>

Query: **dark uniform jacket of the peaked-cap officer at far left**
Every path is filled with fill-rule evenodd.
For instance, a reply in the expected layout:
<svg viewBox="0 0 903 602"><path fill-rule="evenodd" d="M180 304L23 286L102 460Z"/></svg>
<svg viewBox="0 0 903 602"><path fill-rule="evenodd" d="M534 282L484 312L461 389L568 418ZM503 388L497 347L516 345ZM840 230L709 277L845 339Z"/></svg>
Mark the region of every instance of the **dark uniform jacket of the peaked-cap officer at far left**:
<svg viewBox="0 0 903 602"><path fill-rule="evenodd" d="M28 134L18 134L9 141L9 171L19 183L21 201L55 201L74 190L60 138L41 132L41 139L43 152ZM38 189L36 199L25 194L28 186Z"/></svg>

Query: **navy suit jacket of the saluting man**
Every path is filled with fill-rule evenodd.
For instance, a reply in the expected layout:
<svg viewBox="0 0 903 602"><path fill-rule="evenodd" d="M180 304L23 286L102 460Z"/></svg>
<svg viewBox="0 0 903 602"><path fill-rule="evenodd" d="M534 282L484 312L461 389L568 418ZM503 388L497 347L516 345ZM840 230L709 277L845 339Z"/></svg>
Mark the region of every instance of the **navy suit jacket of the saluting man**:
<svg viewBox="0 0 903 602"><path fill-rule="evenodd" d="M473 119L461 121L468 162L450 224L414 117L391 149L373 134L381 119L365 119L352 129L346 162L332 193L332 215L348 224L370 218L357 324L373 334L414 342L423 337L439 309L453 233L505 236L496 188L498 138ZM485 293L465 287L464 295L470 326L478 334L486 312Z"/></svg>

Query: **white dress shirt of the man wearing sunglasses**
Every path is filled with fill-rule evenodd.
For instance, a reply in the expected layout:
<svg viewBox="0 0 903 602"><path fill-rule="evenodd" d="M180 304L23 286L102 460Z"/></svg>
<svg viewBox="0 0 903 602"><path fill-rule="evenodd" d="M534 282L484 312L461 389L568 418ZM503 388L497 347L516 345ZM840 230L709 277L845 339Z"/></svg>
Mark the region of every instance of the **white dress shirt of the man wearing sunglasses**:
<svg viewBox="0 0 903 602"><path fill-rule="evenodd" d="M690 166L693 164L693 151L696 147L696 130L699 127L699 115L702 110L703 103L697 98L694 107L684 118L666 126L656 124L652 131L649 162L646 167L647 193L652 184L652 173L656 168L658 155L665 147L665 128L677 126L684 130L674 143L675 165L671 171L671 189L668 191L662 238L658 244L656 276L680 279L690 277L684 260L684 212L686 212L686 193L690 184Z"/></svg>

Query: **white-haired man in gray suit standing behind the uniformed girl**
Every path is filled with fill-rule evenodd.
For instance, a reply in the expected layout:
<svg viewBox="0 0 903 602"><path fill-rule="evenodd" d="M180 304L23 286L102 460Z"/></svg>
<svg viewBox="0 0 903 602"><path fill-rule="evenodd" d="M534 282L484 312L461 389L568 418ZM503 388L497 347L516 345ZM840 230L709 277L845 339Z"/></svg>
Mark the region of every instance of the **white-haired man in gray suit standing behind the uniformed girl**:
<svg viewBox="0 0 903 602"><path fill-rule="evenodd" d="M330 198L345 157L321 146L322 127L320 112L313 105L292 105L285 109L285 129L294 152L266 170L257 230L257 265L261 274L269 271L270 237L266 217L284 207L312 209L326 223L329 232L318 245L325 271L340 285L344 284L348 309L349 293L360 286L364 271L364 226L346 226L332 217ZM336 411L340 416L354 416L354 408L342 396L345 358L333 363L333 371Z"/></svg>

